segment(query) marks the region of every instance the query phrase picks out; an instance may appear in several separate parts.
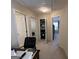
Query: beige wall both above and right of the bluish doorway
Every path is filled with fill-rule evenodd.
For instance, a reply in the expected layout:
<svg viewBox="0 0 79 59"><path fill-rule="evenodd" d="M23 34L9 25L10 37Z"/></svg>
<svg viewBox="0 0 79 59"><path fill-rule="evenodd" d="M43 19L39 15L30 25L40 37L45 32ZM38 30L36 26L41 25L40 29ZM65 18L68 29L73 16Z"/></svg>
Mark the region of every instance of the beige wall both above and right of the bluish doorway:
<svg viewBox="0 0 79 59"><path fill-rule="evenodd" d="M52 16L60 16L60 47L68 55L68 7L61 10L53 11Z"/></svg>

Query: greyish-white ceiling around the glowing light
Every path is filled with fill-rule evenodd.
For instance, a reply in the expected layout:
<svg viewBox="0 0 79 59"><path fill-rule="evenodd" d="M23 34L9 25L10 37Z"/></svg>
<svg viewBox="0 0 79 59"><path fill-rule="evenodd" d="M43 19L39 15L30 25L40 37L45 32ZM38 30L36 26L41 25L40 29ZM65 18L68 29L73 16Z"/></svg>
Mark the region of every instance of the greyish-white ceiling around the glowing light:
<svg viewBox="0 0 79 59"><path fill-rule="evenodd" d="M67 0L17 0L17 2L37 13L40 12L38 8L41 6L51 8L52 10L58 10L67 4Z"/></svg>

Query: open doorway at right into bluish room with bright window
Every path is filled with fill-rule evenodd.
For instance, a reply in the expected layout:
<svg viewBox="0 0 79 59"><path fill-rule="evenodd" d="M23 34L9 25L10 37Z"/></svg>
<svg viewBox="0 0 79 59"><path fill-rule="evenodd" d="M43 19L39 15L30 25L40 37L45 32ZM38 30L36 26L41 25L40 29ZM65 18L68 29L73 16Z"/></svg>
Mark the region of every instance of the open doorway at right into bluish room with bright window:
<svg viewBox="0 0 79 59"><path fill-rule="evenodd" d="M54 45L59 44L59 28L60 28L60 16L54 16L52 18L52 40Z"/></svg>

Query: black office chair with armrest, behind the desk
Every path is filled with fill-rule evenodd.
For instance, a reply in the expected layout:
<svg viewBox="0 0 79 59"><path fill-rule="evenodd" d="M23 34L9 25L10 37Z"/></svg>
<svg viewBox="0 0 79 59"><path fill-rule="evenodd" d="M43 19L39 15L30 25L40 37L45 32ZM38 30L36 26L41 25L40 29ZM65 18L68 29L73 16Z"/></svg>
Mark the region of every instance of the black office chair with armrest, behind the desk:
<svg viewBox="0 0 79 59"><path fill-rule="evenodd" d="M28 48L36 49L36 37L26 37L24 45L16 48L16 50L25 51Z"/></svg>

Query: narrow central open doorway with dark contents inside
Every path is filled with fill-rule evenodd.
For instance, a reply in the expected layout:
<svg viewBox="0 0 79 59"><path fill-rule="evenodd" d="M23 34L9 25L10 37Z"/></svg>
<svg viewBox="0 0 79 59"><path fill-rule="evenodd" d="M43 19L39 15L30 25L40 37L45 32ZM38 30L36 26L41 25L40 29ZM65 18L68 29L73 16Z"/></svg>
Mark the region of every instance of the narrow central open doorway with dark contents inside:
<svg viewBox="0 0 79 59"><path fill-rule="evenodd" d="M45 18L40 19L40 39L47 41L47 22Z"/></svg>

